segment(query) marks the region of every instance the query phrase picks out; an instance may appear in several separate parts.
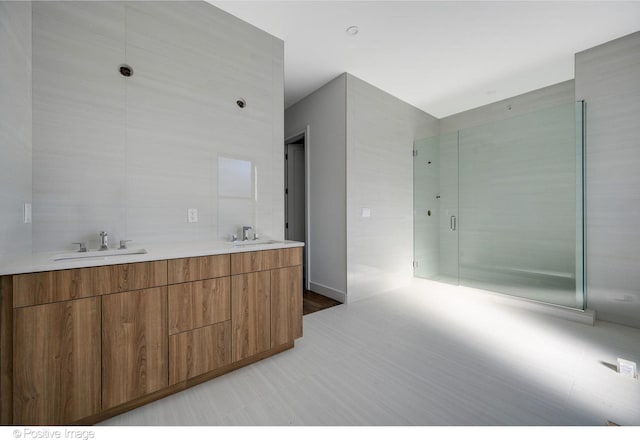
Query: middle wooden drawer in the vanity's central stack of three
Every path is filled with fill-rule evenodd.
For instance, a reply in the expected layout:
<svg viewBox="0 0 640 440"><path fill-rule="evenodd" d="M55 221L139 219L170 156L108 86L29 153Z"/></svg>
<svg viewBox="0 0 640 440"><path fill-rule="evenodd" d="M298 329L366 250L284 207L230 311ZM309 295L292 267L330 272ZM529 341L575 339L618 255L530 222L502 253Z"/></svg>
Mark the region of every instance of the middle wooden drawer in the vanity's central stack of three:
<svg viewBox="0 0 640 440"><path fill-rule="evenodd" d="M169 286L169 334L231 319L231 281L213 278Z"/></svg>

